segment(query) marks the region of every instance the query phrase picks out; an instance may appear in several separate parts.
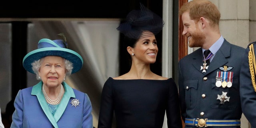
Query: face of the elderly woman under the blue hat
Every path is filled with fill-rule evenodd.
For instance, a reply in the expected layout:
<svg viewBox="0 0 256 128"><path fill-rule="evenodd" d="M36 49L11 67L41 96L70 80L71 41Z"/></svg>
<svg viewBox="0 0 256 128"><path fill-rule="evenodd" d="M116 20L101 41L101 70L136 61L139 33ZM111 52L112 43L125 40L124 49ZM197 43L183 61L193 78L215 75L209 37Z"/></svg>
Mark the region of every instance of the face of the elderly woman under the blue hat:
<svg viewBox="0 0 256 128"><path fill-rule="evenodd" d="M44 57L38 74L44 85L48 87L60 85L66 76L64 58L60 56Z"/></svg>

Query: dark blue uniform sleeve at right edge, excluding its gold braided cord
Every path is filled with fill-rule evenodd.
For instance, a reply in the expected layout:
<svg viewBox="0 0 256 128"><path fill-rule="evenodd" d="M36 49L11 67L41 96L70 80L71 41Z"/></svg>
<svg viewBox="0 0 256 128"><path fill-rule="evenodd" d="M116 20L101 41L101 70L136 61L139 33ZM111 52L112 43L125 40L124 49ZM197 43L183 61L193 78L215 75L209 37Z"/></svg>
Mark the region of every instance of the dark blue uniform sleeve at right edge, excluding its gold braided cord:
<svg viewBox="0 0 256 128"><path fill-rule="evenodd" d="M256 51L256 42L253 42L251 44L253 44L254 51ZM250 122L251 127L256 128L256 92L253 88L252 78L250 74L249 61L248 61L249 51L250 51L249 47L246 48L246 54L244 55L244 60L242 60L242 62L244 63L242 65L241 73L240 73L240 79L241 79L240 95L241 95L241 103L242 103L242 110L243 110L244 116ZM254 52L254 54L255 53L256 52ZM253 81L255 82L255 77L256 77L255 69L252 71L254 72Z"/></svg>

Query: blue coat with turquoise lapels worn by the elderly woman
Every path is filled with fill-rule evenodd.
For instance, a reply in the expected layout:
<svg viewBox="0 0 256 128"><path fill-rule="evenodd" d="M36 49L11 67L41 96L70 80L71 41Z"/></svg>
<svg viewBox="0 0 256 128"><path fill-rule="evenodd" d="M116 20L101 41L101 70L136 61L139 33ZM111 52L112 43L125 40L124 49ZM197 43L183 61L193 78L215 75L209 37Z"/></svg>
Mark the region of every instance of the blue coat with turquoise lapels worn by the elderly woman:
<svg viewBox="0 0 256 128"><path fill-rule="evenodd" d="M42 93L42 81L19 90L14 101L11 128L93 128L92 105L88 95L65 82L62 85L65 92L54 116ZM80 103L72 106L73 99Z"/></svg>

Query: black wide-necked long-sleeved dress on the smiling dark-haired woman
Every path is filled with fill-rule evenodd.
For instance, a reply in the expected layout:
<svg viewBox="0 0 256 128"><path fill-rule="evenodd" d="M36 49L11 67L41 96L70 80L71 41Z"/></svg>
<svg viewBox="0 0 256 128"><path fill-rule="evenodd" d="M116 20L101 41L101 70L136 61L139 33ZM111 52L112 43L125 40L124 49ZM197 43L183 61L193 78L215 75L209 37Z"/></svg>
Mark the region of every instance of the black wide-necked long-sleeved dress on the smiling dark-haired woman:
<svg viewBox="0 0 256 128"><path fill-rule="evenodd" d="M182 128L178 90L167 80L106 80L101 97L98 128L162 128L166 111L168 128Z"/></svg>

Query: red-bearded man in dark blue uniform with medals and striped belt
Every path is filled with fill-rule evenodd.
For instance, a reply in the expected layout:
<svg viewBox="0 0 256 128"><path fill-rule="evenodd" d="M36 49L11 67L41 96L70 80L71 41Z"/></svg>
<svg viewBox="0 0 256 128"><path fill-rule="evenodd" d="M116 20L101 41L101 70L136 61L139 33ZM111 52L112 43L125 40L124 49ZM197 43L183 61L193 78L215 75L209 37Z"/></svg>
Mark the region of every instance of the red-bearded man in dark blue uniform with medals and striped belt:
<svg viewBox="0 0 256 128"><path fill-rule="evenodd" d="M185 127L240 128L239 80L245 49L220 34L220 12L212 2L192 0L180 8L180 15L188 46L200 47L178 65Z"/></svg>

